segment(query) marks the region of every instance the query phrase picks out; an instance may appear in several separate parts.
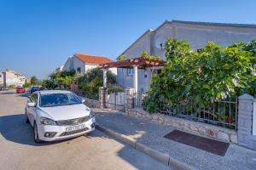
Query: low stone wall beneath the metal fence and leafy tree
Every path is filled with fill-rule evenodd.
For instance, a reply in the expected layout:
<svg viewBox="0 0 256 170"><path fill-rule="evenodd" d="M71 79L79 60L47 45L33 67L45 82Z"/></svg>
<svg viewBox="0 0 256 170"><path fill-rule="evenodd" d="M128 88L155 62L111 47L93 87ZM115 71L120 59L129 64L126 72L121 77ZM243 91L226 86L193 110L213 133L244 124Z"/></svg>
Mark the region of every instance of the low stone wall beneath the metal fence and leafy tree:
<svg viewBox="0 0 256 170"><path fill-rule="evenodd" d="M229 143L237 144L237 133L224 127L218 127L203 122L192 122L185 119L166 116L163 114L149 114L141 109L129 109L127 115L143 118L151 122L161 123L167 126L176 127L177 129L190 133L199 134L212 139L218 139Z"/></svg>

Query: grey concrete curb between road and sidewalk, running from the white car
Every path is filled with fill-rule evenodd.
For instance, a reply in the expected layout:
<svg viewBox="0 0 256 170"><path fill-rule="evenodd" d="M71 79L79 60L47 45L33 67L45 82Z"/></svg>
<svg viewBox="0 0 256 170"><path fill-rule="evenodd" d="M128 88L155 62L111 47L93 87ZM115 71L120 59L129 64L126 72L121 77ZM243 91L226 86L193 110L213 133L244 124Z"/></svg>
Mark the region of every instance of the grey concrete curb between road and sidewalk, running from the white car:
<svg viewBox="0 0 256 170"><path fill-rule="evenodd" d="M169 156L168 154L161 153L158 150L153 150L149 148L147 145L137 142L136 139L132 139L131 137L126 136L125 134L117 133L109 129L108 127L104 127L96 123L96 128L102 131L103 133L108 133L110 136L113 136L114 138L123 141L125 144L131 145L136 150L140 150L145 154L148 154L148 156L154 157L155 159L163 162L169 167L174 167L176 169L181 169L181 170L196 169L195 167L191 167L189 164L183 161L178 161L176 158Z"/></svg>

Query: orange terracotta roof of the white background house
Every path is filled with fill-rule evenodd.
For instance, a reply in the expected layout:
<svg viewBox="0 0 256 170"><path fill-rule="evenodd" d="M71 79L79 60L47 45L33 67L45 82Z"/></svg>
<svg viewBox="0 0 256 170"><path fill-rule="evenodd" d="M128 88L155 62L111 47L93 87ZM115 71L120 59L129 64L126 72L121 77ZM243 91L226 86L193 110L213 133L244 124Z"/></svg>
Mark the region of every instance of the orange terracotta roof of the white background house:
<svg viewBox="0 0 256 170"><path fill-rule="evenodd" d="M96 55L90 55L90 54L74 54L74 55L84 63L89 63L89 64L101 65L101 64L113 62L113 60L103 56L96 56Z"/></svg>

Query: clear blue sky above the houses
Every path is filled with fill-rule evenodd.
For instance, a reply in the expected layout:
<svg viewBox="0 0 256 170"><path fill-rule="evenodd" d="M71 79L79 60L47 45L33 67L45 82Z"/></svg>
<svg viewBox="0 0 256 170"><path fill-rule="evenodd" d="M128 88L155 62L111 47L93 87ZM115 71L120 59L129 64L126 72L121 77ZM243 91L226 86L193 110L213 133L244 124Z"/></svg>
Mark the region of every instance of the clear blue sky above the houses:
<svg viewBox="0 0 256 170"><path fill-rule="evenodd" d="M46 78L74 53L115 59L165 20L256 24L256 1L0 0L0 71Z"/></svg>

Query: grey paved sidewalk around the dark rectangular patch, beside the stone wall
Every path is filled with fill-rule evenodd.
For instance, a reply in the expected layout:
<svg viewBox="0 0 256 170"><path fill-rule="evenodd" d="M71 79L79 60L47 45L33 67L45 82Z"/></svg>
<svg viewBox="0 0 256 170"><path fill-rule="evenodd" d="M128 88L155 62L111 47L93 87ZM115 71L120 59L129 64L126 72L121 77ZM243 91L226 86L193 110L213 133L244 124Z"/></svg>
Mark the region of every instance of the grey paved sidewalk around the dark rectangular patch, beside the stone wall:
<svg viewBox="0 0 256 170"><path fill-rule="evenodd" d="M96 122L137 142L183 161L198 169L256 169L256 151L230 144L225 156L217 156L186 144L163 138L174 128L148 122L124 113L95 109Z"/></svg>

